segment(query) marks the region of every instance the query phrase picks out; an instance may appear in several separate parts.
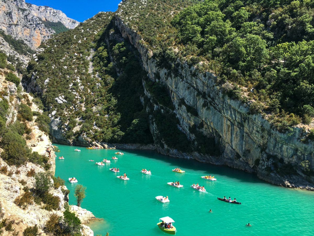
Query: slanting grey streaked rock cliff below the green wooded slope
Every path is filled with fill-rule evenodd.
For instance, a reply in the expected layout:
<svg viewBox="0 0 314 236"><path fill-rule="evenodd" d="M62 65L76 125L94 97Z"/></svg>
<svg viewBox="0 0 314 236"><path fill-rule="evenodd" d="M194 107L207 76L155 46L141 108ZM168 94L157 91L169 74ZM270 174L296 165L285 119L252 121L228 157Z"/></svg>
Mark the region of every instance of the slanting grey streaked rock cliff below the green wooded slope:
<svg viewBox="0 0 314 236"><path fill-rule="evenodd" d="M159 152L255 172L261 179L282 186L314 190L313 177L299 171L300 163L306 160L310 163L309 168L314 169L314 145L313 142L300 142L299 128L295 127L291 135L283 134L273 129L261 115L250 115L244 104L221 92L212 73L199 73L186 63L180 63L176 73L157 67L156 61L151 57L152 52L144 46L140 35L124 25L118 15L115 25L123 38L130 41L140 53L143 68L149 78L160 81L167 88L175 107L173 112L187 138L195 138L190 132L195 125L205 138L214 139L220 155L181 153L166 145L165 148L159 146ZM145 89L144 81L143 85ZM145 94L154 104L154 110L162 109L159 104L154 103L155 100L147 89ZM182 99L188 106L196 109L197 115L187 112L186 107L180 103ZM156 138L158 129L154 121L150 129ZM284 172L284 167L289 165L295 166L295 174Z"/></svg>

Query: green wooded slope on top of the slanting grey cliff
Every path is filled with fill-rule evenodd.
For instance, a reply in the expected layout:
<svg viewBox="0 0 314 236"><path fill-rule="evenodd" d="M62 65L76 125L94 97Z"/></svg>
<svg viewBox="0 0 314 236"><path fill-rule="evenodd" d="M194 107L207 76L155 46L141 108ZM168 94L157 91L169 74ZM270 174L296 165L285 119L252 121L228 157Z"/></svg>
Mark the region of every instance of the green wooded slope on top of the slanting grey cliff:
<svg viewBox="0 0 314 236"><path fill-rule="evenodd" d="M119 8L119 16L141 34L160 66L174 69L180 58L212 71L224 93L281 132L311 123L313 1L132 3Z"/></svg>

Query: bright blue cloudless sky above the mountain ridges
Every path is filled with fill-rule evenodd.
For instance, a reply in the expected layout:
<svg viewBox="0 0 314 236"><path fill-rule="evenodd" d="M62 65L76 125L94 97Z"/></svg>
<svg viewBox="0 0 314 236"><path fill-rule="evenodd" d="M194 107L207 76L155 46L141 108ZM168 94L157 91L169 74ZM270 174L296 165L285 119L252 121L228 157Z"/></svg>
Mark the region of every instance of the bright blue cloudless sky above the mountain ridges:
<svg viewBox="0 0 314 236"><path fill-rule="evenodd" d="M26 2L61 10L68 17L82 22L100 11L116 11L121 0L26 0Z"/></svg>

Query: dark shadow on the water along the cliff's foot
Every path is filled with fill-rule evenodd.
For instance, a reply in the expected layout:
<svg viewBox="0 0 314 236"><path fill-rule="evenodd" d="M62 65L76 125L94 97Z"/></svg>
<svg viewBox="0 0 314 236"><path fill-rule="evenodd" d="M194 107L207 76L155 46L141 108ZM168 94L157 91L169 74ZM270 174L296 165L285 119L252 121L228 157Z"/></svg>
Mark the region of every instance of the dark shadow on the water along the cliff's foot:
<svg viewBox="0 0 314 236"><path fill-rule="evenodd" d="M213 165L210 163L200 162L194 159L184 159L184 158L166 156L156 151L132 150L132 149L127 149L125 151L133 154L134 156L145 156L146 158L150 158L150 159L162 160L173 165L174 168L180 167L182 170L193 169L193 170L198 170L198 171L204 171L204 174L211 174L211 175L219 174L220 176L228 176L228 177L235 178L237 180L246 181L249 183L268 183L266 181L259 179L254 173L248 173L242 170L237 170L229 166Z"/></svg>

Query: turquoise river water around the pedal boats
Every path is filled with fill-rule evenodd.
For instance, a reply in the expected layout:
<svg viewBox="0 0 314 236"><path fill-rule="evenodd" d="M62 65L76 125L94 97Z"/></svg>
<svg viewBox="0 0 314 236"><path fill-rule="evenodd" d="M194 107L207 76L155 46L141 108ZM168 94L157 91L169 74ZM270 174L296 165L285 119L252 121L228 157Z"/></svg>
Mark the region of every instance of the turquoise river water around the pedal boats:
<svg viewBox="0 0 314 236"><path fill-rule="evenodd" d="M107 231L110 236L168 235L156 226L164 216L175 220L176 235L313 235L313 192L274 186L243 171L156 152L121 150L124 155L111 160L118 149L78 147L81 152L75 152L75 146L56 145L61 150L57 156L65 158L56 160L56 176L66 180L71 191L69 203L76 204L76 184L67 181L74 176L87 187L81 207L104 219L89 224L95 235L104 236ZM103 158L111 163L95 165ZM120 168L120 173L110 171L112 167ZM175 167L186 172L172 172ZM142 168L152 174L141 173ZM130 180L116 178L124 172ZM206 174L217 181L202 179ZM167 185L172 181L180 181L184 187ZM204 185L207 193L193 190L192 183ZM170 202L157 201L158 195L168 195ZM242 204L217 200L223 196L236 197ZM252 227L245 226L248 222Z"/></svg>

